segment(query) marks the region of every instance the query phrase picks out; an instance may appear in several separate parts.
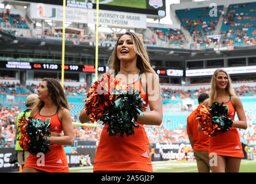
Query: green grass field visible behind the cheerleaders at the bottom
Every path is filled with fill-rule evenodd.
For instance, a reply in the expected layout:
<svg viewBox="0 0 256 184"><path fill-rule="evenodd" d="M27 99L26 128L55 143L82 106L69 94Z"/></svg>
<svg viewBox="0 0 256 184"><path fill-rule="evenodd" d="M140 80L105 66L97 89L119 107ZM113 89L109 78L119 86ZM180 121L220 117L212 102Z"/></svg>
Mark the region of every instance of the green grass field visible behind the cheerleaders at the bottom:
<svg viewBox="0 0 256 184"><path fill-rule="evenodd" d="M154 173L197 173L196 161L152 162ZM70 167L71 173L92 173L93 166ZM256 160L242 160L240 173L256 173Z"/></svg>

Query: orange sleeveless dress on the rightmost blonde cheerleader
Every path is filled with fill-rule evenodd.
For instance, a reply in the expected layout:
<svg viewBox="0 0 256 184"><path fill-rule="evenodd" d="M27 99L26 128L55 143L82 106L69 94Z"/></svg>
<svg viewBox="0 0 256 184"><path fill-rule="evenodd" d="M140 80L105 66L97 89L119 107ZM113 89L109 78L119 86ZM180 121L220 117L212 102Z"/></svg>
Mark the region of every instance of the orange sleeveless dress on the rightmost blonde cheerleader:
<svg viewBox="0 0 256 184"><path fill-rule="evenodd" d="M228 116L234 119L236 111L231 102L231 96L230 100L223 105L228 106ZM211 154L243 158L242 143L238 130L235 127L231 127L227 132L210 137L209 155Z"/></svg>

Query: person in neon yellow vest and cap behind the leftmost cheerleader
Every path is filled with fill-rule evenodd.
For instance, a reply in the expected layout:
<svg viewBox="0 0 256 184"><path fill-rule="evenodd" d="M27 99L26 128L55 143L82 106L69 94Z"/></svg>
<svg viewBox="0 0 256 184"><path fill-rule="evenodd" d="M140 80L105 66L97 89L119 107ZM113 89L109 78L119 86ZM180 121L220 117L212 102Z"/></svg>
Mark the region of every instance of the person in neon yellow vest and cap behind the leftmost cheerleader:
<svg viewBox="0 0 256 184"><path fill-rule="evenodd" d="M20 132L20 125L18 125L19 124L18 120L20 120L20 118L22 118L22 117L28 118L30 116L31 109L33 108L33 106L36 104L37 101L39 101L37 94L28 95L28 97L26 98L26 102L25 102L26 110L24 112L21 112L20 114L18 114L18 116L16 118L16 134L15 134L16 147L15 147L15 150L17 151L18 164L20 164L22 168L24 166L24 163L26 162L26 158L28 158L29 152L27 150L23 150L19 145L21 132Z"/></svg>

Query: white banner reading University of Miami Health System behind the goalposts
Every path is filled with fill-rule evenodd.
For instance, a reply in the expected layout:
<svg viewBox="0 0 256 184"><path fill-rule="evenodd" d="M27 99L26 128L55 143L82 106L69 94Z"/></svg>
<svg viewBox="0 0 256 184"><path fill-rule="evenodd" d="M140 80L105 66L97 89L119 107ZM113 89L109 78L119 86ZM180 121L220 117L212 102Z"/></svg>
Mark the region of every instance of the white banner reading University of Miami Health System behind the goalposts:
<svg viewBox="0 0 256 184"><path fill-rule="evenodd" d="M30 4L30 18L62 22L63 7L43 3ZM121 11L100 10L99 24L121 27L146 29L145 14L124 13ZM95 24L96 10L78 7L66 7L66 21L85 24Z"/></svg>

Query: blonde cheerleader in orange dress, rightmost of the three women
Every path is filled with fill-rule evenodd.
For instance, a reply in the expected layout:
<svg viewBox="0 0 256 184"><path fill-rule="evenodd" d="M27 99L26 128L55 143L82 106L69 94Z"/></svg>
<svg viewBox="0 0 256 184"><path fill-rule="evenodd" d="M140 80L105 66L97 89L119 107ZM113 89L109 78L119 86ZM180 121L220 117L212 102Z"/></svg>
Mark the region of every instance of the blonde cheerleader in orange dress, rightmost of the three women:
<svg viewBox="0 0 256 184"><path fill-rule="evenodd" d="M236 128L247 128L243 104L232 89L230 75L227 71L217 69L212 76L211 84L210 97L204 101L204 105L211 106L213 102L224 102L223 105L228 107L228 117L233 120L229 131L210 137L209 158L217 162L212 165L210 163L211 170L213 173L238 173L241 158L244 155ZM234 121L235 113L238 115L238 121ZM201 131L200 125L198 125L198 130Z"/></svg>

